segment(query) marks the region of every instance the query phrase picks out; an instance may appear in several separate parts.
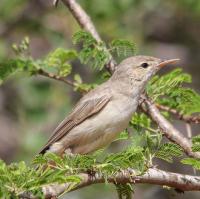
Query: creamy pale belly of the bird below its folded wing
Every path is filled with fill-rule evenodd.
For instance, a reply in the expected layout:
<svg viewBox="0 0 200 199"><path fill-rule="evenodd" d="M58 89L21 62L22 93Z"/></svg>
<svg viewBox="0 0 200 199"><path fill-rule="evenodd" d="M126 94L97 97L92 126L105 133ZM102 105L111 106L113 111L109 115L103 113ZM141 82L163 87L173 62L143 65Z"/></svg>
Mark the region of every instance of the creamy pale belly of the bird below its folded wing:
<svg viewBox="0 0 200 199"><path fill-rule="evenodd" d="M123 100L123 103L122 103ZM123 131L137 108L130 98L109 102L97 115L73 128L60 144L72 153L87 154L110 144Z"/></svg>

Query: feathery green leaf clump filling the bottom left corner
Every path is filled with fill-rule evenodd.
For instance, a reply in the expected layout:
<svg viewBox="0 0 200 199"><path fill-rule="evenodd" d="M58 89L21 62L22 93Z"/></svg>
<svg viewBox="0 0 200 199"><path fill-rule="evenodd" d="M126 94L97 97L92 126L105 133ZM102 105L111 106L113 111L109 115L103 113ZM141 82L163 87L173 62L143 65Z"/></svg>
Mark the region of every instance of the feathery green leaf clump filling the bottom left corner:
<svg viewBox="0 0 200 199"><path fill-rule="evenodd" d="M38 169L27 166L24 162L6 165L0 161L0 197L17 198L24 191L28 191L39 198L43 198L41 187L52 183L72 182L78 184L80 178L67 175L67 168L51 169L38 167ZM71 187L73 188L73 187Z"/></svg>

